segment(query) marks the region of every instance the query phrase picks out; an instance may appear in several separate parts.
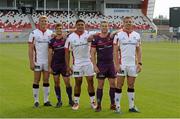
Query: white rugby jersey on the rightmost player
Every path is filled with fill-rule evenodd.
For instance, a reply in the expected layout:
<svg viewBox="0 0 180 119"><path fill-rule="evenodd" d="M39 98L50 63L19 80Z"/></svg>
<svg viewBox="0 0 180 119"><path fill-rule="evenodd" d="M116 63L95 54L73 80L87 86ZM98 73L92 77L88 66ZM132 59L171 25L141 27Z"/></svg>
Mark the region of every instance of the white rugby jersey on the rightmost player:
<svg viewBox="0 0 180 119"><path fill-rule="evenodd" d="M114 44L120 47L120 64L134 66L136 64L136 47L141 44L139 33L120 31L114 37Z"/></svg>

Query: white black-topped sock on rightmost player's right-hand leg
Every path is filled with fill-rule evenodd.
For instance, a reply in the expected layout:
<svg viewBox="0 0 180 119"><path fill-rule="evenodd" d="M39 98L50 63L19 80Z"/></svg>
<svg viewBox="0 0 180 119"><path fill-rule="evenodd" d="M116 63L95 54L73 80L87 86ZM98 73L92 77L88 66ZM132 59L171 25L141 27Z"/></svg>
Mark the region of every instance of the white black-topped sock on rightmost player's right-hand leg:
<svg viewBox="0 0 180 119"><path fill-rule="evenodd" d="M128 88L128 98L129 98L129 109L134 107L134 88Z"/></svg>

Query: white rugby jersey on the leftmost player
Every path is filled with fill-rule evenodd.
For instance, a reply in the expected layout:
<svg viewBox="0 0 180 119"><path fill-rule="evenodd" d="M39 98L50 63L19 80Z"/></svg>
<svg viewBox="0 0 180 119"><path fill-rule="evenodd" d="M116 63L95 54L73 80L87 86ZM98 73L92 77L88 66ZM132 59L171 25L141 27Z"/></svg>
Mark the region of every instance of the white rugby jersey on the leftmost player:
<svg viewBox="0 0 180 119"><path fill-rule="evenodd" d="M34 44L34 61L36 63L48 63L48 42L52 33L49 29L45 32L35 29L30 33L28 43Z"/></svg>

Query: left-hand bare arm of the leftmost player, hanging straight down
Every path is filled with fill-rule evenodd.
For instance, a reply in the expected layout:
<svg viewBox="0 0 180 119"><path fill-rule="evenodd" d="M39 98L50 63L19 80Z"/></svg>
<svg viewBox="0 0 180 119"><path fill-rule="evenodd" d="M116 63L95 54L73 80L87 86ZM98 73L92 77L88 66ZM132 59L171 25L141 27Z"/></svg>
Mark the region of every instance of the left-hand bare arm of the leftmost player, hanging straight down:
<svg viewBox="0 0 180 119"><path fill-rule="evenodd" d="M30 69L34 71L35 64L33 60L33 57L34 57L34 44L33 43L28 44L28 55L29 55Z"/></svg>

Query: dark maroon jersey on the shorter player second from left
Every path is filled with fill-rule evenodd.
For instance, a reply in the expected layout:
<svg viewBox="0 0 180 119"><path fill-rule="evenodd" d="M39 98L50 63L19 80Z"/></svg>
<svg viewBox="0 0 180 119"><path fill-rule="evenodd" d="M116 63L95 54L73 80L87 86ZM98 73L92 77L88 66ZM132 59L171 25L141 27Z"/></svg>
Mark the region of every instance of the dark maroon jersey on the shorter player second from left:
<svg viewBox="0 0 180 119"><path fill-rule="evenodd" d="M53 57L51 65L59 65L59 64L65 64L65 39L57 39L53 38L49 41L49 48L53 49Z"/></svg>

